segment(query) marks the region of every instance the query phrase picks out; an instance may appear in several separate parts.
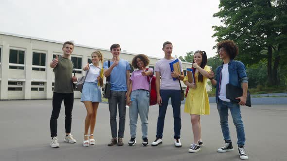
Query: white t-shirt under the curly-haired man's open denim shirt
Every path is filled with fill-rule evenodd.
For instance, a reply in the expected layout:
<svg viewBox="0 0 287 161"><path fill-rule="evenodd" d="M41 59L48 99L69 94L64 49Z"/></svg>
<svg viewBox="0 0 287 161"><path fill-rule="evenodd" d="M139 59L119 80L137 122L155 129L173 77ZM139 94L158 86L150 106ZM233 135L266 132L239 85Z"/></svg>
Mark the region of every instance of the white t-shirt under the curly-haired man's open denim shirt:
<svg viewBox="0 0 287 161"><path fill-rule="evenodd" d="M220 92L219 99L230 102L230 99L226 98L226 84L229 83L229 72L228 72L228 64L223 64L223 68L221 70L221 84L220 84Z"/></svg>

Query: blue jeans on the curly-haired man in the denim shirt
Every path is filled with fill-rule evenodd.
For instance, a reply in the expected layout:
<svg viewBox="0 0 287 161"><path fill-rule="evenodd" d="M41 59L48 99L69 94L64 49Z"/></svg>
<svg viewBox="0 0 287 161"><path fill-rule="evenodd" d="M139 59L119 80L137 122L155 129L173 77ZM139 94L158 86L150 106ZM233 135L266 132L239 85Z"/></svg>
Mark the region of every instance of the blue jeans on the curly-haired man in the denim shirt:
<svg viewBox="0 0 287 161"><path fill-rule="evenodd" d="M240 106L238 103L225 102L218 99L217 110L220 117L220 126L223 133L223 137L227 141L231 141L230 132L228 127L228 109L230 109L233 123L237 132L237 145L241 146L245 144L244 125L241 119Z"/></svg>

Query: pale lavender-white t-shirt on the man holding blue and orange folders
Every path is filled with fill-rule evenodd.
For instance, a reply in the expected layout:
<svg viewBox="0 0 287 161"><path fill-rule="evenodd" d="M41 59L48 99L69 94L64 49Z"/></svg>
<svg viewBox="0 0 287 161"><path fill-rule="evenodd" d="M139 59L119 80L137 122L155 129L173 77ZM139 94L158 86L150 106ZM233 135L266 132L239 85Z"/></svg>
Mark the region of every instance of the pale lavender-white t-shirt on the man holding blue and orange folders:
<svg viewBox="0 0 287 161"><path fill-rule="evenodd" d="M180 90L179 80L175 81L171 77L171 69L169 63L175 61L175 59L167 60L165 58L156 62L155 72L161 73L161 88L160 89L175 89ZM182 62L179 60L180 71L183 72ZM179 73L181 74L181 73Z"/></svg>

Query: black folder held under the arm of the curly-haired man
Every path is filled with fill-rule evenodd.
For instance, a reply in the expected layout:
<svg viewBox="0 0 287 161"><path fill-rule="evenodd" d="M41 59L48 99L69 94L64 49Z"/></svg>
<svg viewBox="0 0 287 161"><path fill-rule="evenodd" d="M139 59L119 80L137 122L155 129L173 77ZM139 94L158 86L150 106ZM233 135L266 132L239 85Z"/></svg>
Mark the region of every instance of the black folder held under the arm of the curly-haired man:
<svg viewBox="0 0 287 161"><path fill-rule="evenodd" d="M233 102L240 102L240 99L236 99L236 97L241 97L242 96L242 88L239 88L237 86L234 86L230 83L226 84L226 98L230 99ZM247 97L246 97L246 106L251 107L251 98L250 98L250 93L247 91Z"/></svg>

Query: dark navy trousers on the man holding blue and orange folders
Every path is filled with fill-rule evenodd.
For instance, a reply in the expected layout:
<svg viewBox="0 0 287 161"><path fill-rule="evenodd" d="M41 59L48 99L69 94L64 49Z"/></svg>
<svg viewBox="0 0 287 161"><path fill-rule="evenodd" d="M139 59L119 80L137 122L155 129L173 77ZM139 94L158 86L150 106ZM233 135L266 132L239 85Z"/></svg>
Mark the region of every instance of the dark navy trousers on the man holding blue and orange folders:
<svg viewBox="0 0 287 161"><path fill-rule="evenodd" d="M159 106L159 117L157 125L157 138L162 138L164 118L168 105L168 100L171 98L171 105L174 118L174 138L180 138L181 118L180 118L180 90L160 90L162 104Z"/></svg>

